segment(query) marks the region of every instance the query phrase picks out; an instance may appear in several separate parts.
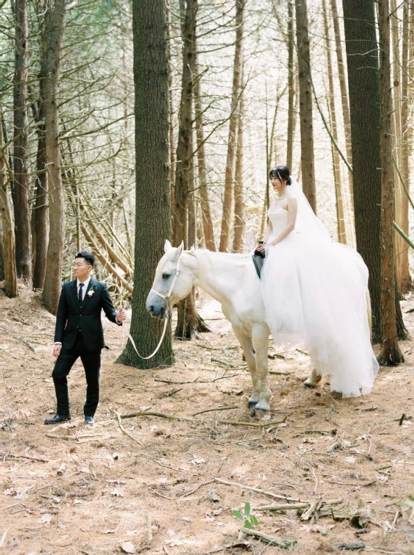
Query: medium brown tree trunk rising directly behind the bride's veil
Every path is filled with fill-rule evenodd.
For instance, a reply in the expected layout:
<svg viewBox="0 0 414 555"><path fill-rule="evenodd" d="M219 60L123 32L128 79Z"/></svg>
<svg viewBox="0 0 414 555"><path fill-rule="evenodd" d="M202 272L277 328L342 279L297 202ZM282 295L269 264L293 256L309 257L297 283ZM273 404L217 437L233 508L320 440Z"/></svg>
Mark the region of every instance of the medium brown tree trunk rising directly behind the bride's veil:
<svg viewBox="0 0 414 555"><path fill-rule="evenodd" d="M300 96L300 146L302 188L316 214L315 158L313 154L311 58L307 1L295 0L296 40Z"/></svg>

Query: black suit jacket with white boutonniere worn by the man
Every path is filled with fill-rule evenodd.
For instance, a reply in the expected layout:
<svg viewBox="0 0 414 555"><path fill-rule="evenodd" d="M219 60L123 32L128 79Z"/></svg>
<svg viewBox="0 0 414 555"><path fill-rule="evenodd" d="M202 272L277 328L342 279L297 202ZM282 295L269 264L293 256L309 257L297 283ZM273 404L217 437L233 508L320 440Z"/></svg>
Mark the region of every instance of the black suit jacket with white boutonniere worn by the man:
<svg viewBox="0 0 414 555"><path fill-rule="evenodd" d="M75 344L78 331L81 330L86 350L103 349L105 343L101 323L102 309L105 311L108 320L117 323L115 320L117 312L114 305L112 305L110 293L105 283L91 278L82 307L79 307L76 280L64 283L56 316L55 341L60 341L62 348L71 349Z"/></svg>

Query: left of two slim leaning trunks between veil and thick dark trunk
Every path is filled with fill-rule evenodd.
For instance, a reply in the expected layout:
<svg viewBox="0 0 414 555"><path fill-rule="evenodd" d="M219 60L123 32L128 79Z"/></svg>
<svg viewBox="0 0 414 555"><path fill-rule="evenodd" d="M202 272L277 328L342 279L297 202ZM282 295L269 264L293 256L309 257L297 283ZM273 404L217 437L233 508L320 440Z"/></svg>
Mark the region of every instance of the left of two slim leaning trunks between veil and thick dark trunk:
<svg viewBox="0 0 414 555"><path fill-rule="evenodd" d="M324 29L325 29L325 42L326 42L326 49L327 49L327 69L328 69L328 80L329 80L329 114L331 117L332 136L334 137L336 144L338 144L334 76L332 74L331 45L330 45L330 39L329 39L329 25L328 25L326 0L322 0L322 12L323 12L323 23L324 23ZM340 176L339 154L333 144L331 144L331 153L332 153L332 167L334 169L336 223L337 223L337 229L338 229L338 241L340 243L347 244L342 182L341 182L341 176Z"/></svg>

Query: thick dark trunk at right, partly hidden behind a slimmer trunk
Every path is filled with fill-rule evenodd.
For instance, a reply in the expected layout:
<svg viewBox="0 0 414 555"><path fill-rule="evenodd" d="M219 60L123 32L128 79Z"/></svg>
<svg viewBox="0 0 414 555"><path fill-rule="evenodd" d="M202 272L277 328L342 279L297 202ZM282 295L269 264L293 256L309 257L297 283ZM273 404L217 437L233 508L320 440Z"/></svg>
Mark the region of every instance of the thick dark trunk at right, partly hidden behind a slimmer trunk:
<svg viewBox="0 0 414 555"><path fill-rule="evenodd" d="M352 127L356 246L370 272L372 338L381 338L381 174L378 46L374 3L343 0ZM399 339L406 337L396 302Z"/></svg>

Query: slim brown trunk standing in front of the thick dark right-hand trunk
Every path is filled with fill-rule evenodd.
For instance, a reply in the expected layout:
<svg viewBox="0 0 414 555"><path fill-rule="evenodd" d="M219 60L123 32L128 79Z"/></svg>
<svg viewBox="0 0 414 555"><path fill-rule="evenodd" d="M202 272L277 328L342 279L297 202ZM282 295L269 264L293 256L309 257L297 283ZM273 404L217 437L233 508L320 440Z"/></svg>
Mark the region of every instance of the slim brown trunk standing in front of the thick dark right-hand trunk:
<svg viewBox="0 0 414 555"><path fill-rule="evenodd" d="M391 95L388 0L379 0L379 76L381 91L381 366L404 362L397 341L394 258L393 97Z"/></svg>

